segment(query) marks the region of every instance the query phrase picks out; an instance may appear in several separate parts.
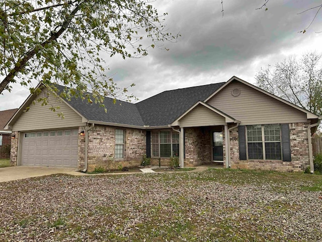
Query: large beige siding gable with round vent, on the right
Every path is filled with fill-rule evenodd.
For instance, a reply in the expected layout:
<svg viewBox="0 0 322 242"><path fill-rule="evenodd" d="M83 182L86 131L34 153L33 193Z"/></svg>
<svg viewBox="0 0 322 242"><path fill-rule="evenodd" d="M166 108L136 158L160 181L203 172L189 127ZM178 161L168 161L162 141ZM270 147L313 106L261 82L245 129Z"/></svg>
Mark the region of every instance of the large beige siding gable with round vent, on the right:
<svg viewBox="0 0 322 242"><path fill-rule="evenodd" d="M243 125L307 122L306 113L238 81L232 81L207 103Z"/></svg>

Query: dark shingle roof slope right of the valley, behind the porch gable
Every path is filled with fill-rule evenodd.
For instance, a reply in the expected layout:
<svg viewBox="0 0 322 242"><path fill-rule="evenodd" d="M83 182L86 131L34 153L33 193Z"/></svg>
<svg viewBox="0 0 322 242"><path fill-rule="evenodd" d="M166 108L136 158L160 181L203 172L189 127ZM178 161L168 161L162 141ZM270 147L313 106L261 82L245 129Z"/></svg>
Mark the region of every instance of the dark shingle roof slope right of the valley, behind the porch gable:
<svg viewBox="0 0 322 242"><path fill-rule="evenodd" d="M225 82L165 91L136 103L146 126L167 126Z"/></svg>

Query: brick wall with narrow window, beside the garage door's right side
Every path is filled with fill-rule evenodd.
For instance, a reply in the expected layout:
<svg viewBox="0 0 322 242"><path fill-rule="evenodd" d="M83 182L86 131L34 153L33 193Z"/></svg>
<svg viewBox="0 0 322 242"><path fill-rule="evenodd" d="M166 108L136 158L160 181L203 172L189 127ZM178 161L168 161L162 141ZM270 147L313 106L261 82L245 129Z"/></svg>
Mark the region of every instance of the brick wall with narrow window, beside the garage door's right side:
<svg viewBox="0 0 322 242"><path fill-rule="evenodd" d="M110 170L118 169L120 166L131 167L141 164L142 157L146 151L145 131L139 129L124 128L124 159L115 159L116 129L122 128L95 126L94 129L89 131L88 171L93 171L95 167L100 166L104 167L107 170ZM84 167L83 154L85 154L85 136L82 136L78 140L78 165L83 165Z"/></svg>

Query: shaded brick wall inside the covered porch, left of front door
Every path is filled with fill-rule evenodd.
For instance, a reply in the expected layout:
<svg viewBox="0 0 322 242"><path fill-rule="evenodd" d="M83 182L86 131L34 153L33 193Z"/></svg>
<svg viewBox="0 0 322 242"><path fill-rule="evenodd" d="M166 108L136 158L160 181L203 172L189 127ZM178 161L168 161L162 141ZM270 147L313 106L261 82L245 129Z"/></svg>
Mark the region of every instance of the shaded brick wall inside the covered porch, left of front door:
<svg viewBox="0 0 322 242"><path fill-rule="evenodd" d="M187 128L185 132L185 166L198 166L211 163L210 130Z"/></svg>

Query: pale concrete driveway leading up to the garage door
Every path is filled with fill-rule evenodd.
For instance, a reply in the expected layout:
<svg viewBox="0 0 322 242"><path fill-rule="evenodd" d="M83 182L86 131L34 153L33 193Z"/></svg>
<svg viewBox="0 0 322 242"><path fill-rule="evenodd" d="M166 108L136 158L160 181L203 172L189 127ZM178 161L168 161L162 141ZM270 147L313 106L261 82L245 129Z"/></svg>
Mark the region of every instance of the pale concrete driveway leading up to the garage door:
<svg viewBox="0 0 322 242"><path fill-rule="evenodd" d="M51 174L70 174L70 175L87 175L75 171L75 168L54 168L54 167L35 167L35 166L10 166L0 168L0 183L9 180L19 180L30 177L37 177Z"/></svg>

